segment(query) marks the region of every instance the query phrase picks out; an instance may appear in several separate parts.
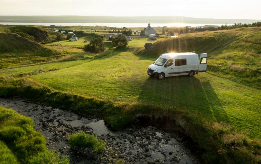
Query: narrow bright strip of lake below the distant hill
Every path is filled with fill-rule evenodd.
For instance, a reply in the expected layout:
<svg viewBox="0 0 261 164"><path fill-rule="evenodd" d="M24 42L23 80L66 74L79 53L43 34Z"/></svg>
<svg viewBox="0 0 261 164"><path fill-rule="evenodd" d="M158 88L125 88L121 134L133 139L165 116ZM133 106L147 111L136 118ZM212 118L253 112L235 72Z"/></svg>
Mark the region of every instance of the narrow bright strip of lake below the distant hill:
<svg viewBox="0 0 261 164"><path fill-rule="evenodd" d="M148 23L42 23L42 22L0 22L0 24L3 25L56 25L56 26L107 26L107 27L147 27ZM224 25L224 24L195 24L195 23L151 23L151 27L184 27L184 26L191 26L191 27L197 27L197 26L204 26L204 25ZM233 24L227 24L227 25L233 25Z"/></svg>

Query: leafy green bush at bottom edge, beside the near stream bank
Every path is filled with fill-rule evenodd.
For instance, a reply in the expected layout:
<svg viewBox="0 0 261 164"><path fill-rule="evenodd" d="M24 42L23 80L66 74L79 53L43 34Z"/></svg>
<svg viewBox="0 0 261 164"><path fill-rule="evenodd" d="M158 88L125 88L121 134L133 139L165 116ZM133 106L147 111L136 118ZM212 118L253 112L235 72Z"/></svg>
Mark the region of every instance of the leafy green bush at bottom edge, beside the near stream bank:
<svg viewBox="0 0 261 164"><path fill-rule="evenodd" d="M44 153L38 154L31 161L31 164L69 164L70 160L67 156L60 157L60 153L53 151L45 151Z"/></svg>

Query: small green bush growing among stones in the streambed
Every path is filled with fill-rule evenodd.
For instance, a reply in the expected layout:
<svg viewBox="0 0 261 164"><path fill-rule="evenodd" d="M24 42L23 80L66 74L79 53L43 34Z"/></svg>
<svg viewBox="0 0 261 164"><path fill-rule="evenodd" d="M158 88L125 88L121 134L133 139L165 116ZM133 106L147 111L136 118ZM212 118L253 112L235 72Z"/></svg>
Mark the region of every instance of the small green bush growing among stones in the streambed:
<svg viewBox="0 0 261 164"><path fill-rule="evenodd" d="M71 147L92 148L92 150L101 153L103 151L104 142L98 141L94 135L86 134L84 132L74 133L69 137L69 144Z"/></svg>

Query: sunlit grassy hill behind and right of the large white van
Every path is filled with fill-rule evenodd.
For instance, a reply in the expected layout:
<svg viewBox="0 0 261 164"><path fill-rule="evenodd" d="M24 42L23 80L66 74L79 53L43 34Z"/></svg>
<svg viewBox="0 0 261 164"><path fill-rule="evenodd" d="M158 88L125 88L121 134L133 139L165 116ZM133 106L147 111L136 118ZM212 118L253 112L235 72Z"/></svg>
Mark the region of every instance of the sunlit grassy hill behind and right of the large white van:
<svg viewBox="0 0 261 164"><path fill-rule="evenodd" d="M136 54L158 57L169 52L208 54L208 71L254 88L261 88L261 28L206 31L157 41Z"/></svg>

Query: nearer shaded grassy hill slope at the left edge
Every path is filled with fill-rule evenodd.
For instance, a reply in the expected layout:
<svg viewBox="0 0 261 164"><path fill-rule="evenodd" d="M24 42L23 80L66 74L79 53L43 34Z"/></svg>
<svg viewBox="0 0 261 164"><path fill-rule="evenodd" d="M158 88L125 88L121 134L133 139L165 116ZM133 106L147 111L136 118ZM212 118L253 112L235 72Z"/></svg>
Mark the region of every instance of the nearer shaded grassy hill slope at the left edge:
<svg viewBox="0 0 261 164"><path fill-rule="evenodd" d="M46 61L57 55L54 49L13 33L0 33L0 69Z"/></svg>

